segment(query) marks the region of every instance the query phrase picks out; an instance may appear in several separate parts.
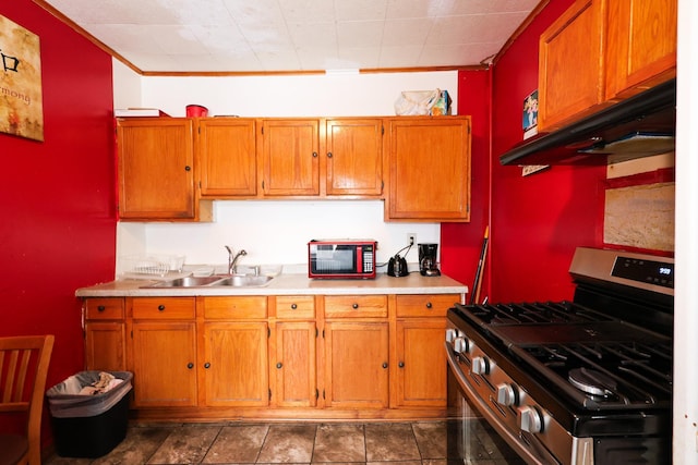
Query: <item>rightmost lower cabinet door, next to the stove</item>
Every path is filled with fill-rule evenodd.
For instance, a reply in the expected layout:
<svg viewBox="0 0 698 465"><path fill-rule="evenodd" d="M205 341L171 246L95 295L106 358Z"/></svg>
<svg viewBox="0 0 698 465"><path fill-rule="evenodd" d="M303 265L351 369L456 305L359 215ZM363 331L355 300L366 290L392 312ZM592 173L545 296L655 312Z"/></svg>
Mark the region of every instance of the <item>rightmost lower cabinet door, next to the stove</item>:
<svg viewBox="0 0 698 465"><path fill-rule="evenodd" d="M446 406L445 318L397 321L395 407Z"/></svg>

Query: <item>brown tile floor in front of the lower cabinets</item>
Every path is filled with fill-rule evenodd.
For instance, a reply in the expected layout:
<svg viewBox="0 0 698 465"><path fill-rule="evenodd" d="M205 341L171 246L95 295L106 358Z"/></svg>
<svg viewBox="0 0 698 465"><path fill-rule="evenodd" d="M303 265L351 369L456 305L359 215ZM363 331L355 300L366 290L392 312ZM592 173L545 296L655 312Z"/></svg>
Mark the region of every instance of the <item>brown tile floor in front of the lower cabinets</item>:
<svg viewBox="0 0 698 465"><path fill-rule="evenodd" d="M100 458L45 465L315 464L445 465L443 421L131 425ZM480 462L479 462L480 463ZM492 462L482 462L490 464Z"/></svg>

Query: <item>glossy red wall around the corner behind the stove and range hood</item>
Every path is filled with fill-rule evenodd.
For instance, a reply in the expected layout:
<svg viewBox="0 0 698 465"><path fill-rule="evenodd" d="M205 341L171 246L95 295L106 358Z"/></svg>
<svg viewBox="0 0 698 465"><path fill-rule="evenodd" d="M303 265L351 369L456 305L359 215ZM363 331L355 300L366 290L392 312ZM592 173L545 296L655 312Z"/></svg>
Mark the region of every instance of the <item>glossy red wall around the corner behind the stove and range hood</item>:
<svg viewBox="0 0 698 465"><path fill-rule="evenodd" d="M481 299L491 302L570 298L567 272L577 246L601 246L604 167L552 167L527 178L519 167L503 167L500 156L522 139L524 99L538 87L538 38L573 0L556 0L533 20L525 33L491 69L491 170L481 160L486 144L473 137L473 219L469 224L442 224L442 243L453 256L444 270L472 285L472 276L488 223L481 209L490 209L490 248ZM465 77L465 76L464 76ZM476 112L473 129L484 114L470 107L482 95L459 88L459 113ZM473 113L474 114L474 113ZM482 134L488 134L482 132ZM480 163L480 166L478 166ZM491 192L488 182L491 175ZM457 261L454 262L453 260Z"/></svg>

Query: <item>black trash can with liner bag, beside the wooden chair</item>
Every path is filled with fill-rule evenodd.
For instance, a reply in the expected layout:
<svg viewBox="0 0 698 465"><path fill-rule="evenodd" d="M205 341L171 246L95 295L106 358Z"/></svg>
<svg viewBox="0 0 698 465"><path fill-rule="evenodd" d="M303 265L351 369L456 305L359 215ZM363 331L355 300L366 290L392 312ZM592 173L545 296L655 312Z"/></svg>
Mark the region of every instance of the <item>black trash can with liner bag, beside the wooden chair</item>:
<svg viewBox="0 0 698 465"><path fill-rule="evenodd" d="M62 457L100 457L127 436L133 374L104 371L122 381L104 393L81 394L101 372L81 371L46 392L56 452Z"/></svg>

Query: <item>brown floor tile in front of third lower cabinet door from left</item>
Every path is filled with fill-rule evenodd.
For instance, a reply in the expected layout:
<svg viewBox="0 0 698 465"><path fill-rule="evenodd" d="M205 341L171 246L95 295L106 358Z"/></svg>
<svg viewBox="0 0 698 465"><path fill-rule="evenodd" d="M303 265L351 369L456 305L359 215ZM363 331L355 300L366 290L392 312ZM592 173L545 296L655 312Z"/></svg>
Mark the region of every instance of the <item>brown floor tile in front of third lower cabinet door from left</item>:
<svg viewBox="0 0 698 465"><path fill-rule="evenodd" d="M267 425L236 425L221 428L203 463L253 464L260 456L268 430Z"/></svg>

